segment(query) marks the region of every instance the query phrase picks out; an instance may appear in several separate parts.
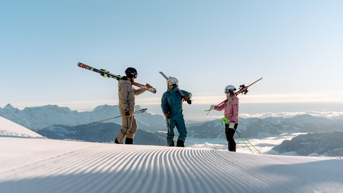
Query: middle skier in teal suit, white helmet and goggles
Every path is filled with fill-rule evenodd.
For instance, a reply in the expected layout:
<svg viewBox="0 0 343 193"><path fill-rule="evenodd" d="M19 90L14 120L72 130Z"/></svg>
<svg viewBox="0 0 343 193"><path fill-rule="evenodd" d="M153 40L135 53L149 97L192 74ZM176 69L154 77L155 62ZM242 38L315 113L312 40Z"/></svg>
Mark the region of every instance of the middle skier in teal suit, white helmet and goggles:
<svg viewBox="0 0 343 193"><path fill-rule="evenodd" d="M187 99L192 98L192 94L181 90L185 96L182 96L178 91L178 83L179 81L174 78L170 77L167 80L168 89L167 92L163 93L161 99L161 107L163 114L166 117L168 133L167 133L167 145L174 146L174 128L177 128L179 132L179 137L177 138L176 147L185 147L185 140L188 134L184 115L182 114L182 100L186 101Z"/></svg>

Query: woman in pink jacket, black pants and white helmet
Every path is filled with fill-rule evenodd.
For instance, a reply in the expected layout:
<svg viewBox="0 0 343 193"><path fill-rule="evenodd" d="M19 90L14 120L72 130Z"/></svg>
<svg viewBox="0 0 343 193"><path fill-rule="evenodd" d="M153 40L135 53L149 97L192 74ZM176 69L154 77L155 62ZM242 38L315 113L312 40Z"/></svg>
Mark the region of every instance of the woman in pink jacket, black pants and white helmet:
<svg viewBox="0 0 343 193"><path fill-rule="evenodd" d="M238 97L235 95L236 88L232 85L225 87L227 101L219 106L211 105L211 110L222 111L224 116L230 122L225 123L225 135L229 151L236 151L236 142L234 138L235 130L238 126Z"/></svg>

